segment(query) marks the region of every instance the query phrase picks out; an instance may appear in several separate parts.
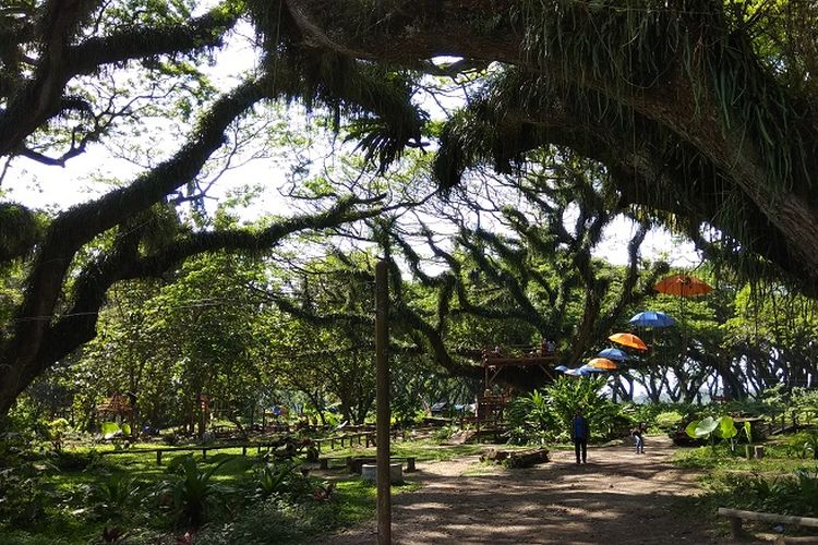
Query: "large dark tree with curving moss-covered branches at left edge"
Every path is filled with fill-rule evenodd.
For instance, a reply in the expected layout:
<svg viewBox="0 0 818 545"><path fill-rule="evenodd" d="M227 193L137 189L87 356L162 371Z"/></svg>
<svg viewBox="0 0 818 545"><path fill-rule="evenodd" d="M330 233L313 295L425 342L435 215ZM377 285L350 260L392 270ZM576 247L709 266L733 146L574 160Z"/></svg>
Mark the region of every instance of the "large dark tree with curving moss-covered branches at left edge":
<svg viewBox="0 0 818 545"><path fill-rule="evenodd" d="M136 137L153 118L192 116L187 140L170 154L101 197L52 217L0 203L0 267L21 264L26 279L11 318L0 324L0 414L32 380L93 338L106 291L117 281L160 276L184 258L217 250L261 252L290 233L325 229L378 213L377 198L330 194L323 209L269 222L265 228L227 228L180 222L173 205L196 187L214 153L234 144L238 120L265 101L296 96L327 105L338 114L404 111L400 81L373 77L350 63L332 80L322 59L260 70L218 93L195 69L222 44L244 14L225 2L191 17L187 2L12 2L0 9L0 155L7 164L26 158L61 166L94 142ZM256 14L256 16L263 16ZM323 68L322 68L323 66ZM142 87L121 82L153 82ZM134 75L135 74L135 75ZM402 109L402 110L401 110ZM388 124L388 123L387 123ZM417 131L416 131L417 132ZM232 142L231 142L232 141ZM229 159L228 159L229 160Z"/></svg>

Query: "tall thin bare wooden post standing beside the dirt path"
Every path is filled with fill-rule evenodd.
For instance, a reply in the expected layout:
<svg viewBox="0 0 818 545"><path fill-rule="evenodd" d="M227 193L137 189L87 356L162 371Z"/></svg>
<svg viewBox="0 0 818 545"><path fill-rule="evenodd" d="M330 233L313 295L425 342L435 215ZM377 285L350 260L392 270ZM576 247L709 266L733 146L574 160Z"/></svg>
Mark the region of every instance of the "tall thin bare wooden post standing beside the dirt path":
<svg viewBox="0 0 818 545"><path fill-rule="evenodd" d="M375 367L377 391L377 545L392 544L392 489L389 488L389 283L385 261L375 265Z"/></svg>

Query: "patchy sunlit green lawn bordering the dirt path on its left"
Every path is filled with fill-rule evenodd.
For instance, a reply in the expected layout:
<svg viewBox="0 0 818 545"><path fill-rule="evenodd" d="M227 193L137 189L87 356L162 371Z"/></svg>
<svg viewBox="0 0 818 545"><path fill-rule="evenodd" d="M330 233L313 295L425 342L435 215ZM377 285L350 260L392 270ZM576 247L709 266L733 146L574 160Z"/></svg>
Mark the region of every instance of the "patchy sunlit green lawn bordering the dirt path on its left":
<svg viewBox="0 0 818 545"><path fill-rule="evenodd" d="M157 446L142 444L133 448ZM434 441L424 440L396 443L393 451L395 456L414 456L419 461L428 461L473 453L481 448L441 448ZM104 449L112 450L112 447L105 446ZM44 455L24 463L29 473L23 475L21 470L21 479L16 481L19 488L13 494L17 494L19 505L32 509L31 512L21 510L21 516L13 521L5 517L1 519L0 543L85 545L99 542L106 526L128 530L132 541L127 543L157 538L172 543L173 535L183 534L184 524L175 524L173 513L159 507L161 495L157 491L171 476L168 467L172 460L189 452L166 452L163 465L157 465L154 452L99 456L100 450L103 448L82 446L59 457ZM310 477L301 499L274 494L265 500L255 498L257 477L250 469L250 464L257 460L255 449L249 449L246 457L241 456L241 448L217 452L208 452L206 460L202 460L201 451L192 452L201 471L229 460L213 474L210 482L230 491L219 493L224 494L221 499L225 501L219 502L224 505L208 511L212 522L201 529L197 544L270 543L272 538L276 543L299 543L374 516L375 487L354 475L337 475L336 489L329 501L318 502L312 498L311 491L322 482L316 477ZM345 448L329 452L339 457L361 453L374 456L374 448ZM293 470L300 477L298 470ZM128 483L128 489L117 495L119 481L111 475L120 475ZM417 485L393 487L396 494L412 489L417 489Z"/></svg>

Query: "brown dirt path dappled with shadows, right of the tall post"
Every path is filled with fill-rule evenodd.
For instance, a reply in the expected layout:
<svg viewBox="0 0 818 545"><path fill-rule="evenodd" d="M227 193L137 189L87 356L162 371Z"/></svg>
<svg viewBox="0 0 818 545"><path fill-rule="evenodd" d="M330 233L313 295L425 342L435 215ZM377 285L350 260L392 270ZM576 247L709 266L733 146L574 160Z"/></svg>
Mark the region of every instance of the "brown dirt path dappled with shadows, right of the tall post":
<svg viewBox="0 0 818 545"><path fill-rule="evenodd" d="M630 447L588 449L588 463L554 451L532 469L488 467L478 457L419 463L407 480L422 487L393 496L393 543L723 543L675 499L697 491L696 474L670 463L670 440L649 437ZM333 545L376 543L374 521L322 540Z"/></svg>

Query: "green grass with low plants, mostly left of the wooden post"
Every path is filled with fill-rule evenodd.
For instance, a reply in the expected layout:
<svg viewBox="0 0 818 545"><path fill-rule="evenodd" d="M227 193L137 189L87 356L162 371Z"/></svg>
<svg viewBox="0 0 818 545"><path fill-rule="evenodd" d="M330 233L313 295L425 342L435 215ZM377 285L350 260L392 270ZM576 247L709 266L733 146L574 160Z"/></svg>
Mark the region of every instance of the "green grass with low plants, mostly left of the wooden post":
<svg viewBox="0 0 818 545"><path fill-rule="evenodd" d="M431 440L401 441L393 445L395 456L413 456L419 461L448 460L476 453L482 449L480 446L471 445L442 449ZM155 445L144 444L134 446L134 448L137 447L156 448ZM106 509L99 505L97 491L106 485L111 474L135 477L140 483L140 494L156 489L158 484L168 476L168 464L176 457L190 452L167 452L163 457L163 465L157 465L154 452L99 456L98 452L95 453L96 450L98 449L94 446L83 445L80 448L67 450L60 457L39 456L34 462L34 467L39 468L35 489L43 500L44 509L31 523L12 524L9 520L0 520L0 536L2 536L0 544L84 545L96 543L99 542L104 528L109 523L130 530L132 540L139 543L151 542L157 536L165 536L164 538L172 541L172 534L180 530L173 528L169 513L159 510L157 497L146 496L124 507ZM330 456L352 456L362 452L374 456L375 449L336 449L330 452ZM241 456L241 448L220 450L218 455L219 458L227 456L237 460L245 459ZM203 464L201 451L193 451L193 456L201 467ZM208 453L207 462L215 457L215 453ZM246 458L255 458L255 450L250 450ZM251 488L254 479L253 472L248 471L246 463L227 463L213 477L219 484L240 491ZM402 494L418 488L417 484L396 485L393 486L393 494ZM240 506L238 509L218 512L214 522L203 530L203 543L231 543L237 540L239 543L269 543L267 540L275 532L280 533L278 541L280 543L310 541L316 535L335 529L353 526L372 519L375 512L376 488L356 477L350 480L344 476L337 481L336 492L330 501L326 502L313 502L309 499L301 506L287 506L275 498L269 501L249 500L243 494L240 494L237 499ZM257 517L261 516L269 518L269 522L263 528L257 524ZM284 529L282 525L291 528ZM210 541L207 535L212 536ZM237 535L240 537L236 537Z"/></svg>

